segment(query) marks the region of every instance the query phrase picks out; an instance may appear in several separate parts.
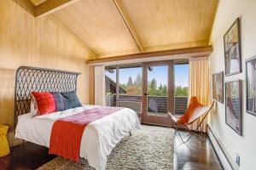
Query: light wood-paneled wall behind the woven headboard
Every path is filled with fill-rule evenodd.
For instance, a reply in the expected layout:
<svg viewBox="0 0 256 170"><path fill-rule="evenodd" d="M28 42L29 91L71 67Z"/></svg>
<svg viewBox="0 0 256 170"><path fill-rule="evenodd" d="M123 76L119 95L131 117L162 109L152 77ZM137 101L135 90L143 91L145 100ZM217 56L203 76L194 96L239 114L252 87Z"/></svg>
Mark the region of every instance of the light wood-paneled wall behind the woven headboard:
<svg viewBox="0 0 256 170"><path fill-rule="evenodd" d="M9 143L13 139L15 71L20 65L79 71L78 94L89 103L90 52L69 31L51 17L36 20L32 14L10 0L0 5L0 123L9 125Z"/></svg>

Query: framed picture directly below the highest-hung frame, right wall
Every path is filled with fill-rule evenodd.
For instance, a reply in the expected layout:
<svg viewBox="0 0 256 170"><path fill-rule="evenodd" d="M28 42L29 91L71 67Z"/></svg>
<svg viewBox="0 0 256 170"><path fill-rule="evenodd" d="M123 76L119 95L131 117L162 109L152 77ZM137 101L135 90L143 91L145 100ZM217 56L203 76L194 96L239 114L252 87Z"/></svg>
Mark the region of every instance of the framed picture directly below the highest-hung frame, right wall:
<svg viewBox="0 0 256 170"><path fill-rule="evenodd" d="M225 122L242 135L242 82L225 83Z"/></svg>

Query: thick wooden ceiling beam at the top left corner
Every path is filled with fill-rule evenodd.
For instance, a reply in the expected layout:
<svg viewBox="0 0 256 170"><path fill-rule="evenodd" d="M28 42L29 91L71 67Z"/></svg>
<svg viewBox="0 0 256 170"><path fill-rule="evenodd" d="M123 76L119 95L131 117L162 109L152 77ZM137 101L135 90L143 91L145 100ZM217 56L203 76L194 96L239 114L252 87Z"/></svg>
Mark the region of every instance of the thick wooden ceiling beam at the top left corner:
<svg viewBox="0 0 256 170"><path fill-rule="evenodd" d="M79 0L47 0L36 7L36 17L40 18L42 16L52 14L55 11L65 8L78 1Z"/></svg>

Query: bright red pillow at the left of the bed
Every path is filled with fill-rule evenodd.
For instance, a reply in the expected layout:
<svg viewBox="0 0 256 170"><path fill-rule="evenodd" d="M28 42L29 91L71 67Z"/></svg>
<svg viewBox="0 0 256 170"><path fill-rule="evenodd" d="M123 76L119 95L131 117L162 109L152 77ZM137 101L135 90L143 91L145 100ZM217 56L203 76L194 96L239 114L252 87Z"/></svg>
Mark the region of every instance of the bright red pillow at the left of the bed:
<svg viewBox="0 0 256 170"><path fill-rule="evenodd" d="M49 92L32 92L37 100L38 115L46 115L55 112L55 98Z"/></svg>

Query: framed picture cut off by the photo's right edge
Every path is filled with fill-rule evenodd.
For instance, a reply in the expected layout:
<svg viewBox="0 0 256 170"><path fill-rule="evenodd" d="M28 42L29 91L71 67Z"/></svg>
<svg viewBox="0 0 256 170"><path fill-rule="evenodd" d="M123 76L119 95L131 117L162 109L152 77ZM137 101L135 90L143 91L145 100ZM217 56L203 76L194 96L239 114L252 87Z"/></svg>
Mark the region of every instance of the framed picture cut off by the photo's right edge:
<svg viewBox="0 0 256 170"><path fill-rule="evenodd" d="M256 55L246 60L246 111L256 116Z"/></svg>

